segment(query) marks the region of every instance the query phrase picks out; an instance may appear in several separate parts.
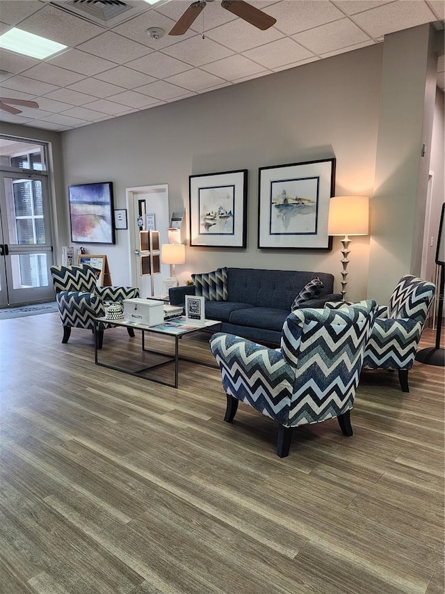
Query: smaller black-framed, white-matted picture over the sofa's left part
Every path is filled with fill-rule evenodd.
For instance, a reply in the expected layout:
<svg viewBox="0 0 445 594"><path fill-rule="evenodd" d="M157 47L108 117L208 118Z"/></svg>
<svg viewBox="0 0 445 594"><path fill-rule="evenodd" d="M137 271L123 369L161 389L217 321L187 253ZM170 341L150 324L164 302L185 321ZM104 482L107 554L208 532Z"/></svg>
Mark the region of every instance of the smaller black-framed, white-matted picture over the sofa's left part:
<svg viewBox="0 0 445 594"><path fill-rule="evenodd" d="M190 175L191 247L245 248L248 170Z"/></svg>

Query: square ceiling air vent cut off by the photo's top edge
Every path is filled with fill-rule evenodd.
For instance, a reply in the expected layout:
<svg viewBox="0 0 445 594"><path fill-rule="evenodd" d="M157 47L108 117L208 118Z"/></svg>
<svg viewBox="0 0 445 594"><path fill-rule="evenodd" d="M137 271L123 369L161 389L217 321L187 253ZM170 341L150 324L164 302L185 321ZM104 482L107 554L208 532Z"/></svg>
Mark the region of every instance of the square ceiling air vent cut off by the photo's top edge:
<svg viewBox="0 0 445 594"><path fill-rule="evenodd" d="M54 0L51 4L107 28L121 24L151 8L145 2L122 0Z"/></svg>

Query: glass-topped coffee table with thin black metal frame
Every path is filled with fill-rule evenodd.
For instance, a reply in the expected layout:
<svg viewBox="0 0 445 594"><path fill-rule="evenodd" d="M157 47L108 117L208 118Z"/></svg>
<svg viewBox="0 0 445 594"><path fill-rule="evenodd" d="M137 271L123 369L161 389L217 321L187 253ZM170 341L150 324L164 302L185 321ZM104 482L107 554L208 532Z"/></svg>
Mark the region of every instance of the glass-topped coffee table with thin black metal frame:
<svg viewBox="0 0 445 594"><path fill-rule="evenodd" d="M113 365L110 362L99 361L99 353L103 349L100 349L100 350L97 349L96 334L97 334L97 331L99 331L99 326L100 326L101 322L102 323L107 322L108 324L112 323L113 326L123 326L125 328L133 328L135 330L140 330L141 334L142 334L142 337L141 337L142 352L155 354L155 355L159 356L158 359L160 358L161 360L155 361L154 363L148 364L148 365L145 362L141 361L141 363L143 363L143 366L134 368L132 370L130 368L125 368L123 366ZM171 387L177 388L178 384L179 384L179 360L192 361L193 363L196 363L198 365L204 365L207 367L211 366L211 365L205 363L204 361L197 361L195 359L188 359L187 357L180 357L179 356L179 341L181 340L181 338L183 336L190 335L197 331L202 331L202 330L218 331L218 326L220 326L220 324L221 324L221 322L218 322L217 320L205 320L204 325L194 326L194 325L191 325L191 323L188 322L184 316L181 316L181 318L175 318L173 320L165 321L165 322L163 322L163 324L159 324L156 326L147 326L145 324L139 324L138 322L126 322L124 320L108 320L107 318L95 318L95 326L94 326L95 364L102 366L102 367L106 367L108 369L122 371L122 373L129 373L129 375L136 375L136 377L143 377L145 380L150 380L150 381L156 382L158 384L164 384L165 386L171 386ZM147 341L145 338L146 333L170 336L172 338L172 340L174 341L174 345L175 345L174 352L172 354L170 354L170 353L166 353L166 352L161 352L159 350L147 348L146 347ZM165 380L162 380L162 379L159 379L156 377L147 377L147 373L146 373L147 371L152 370L154 368L159 368L159 367L165 366L170 363L175 364L175 382L171 383L171 382L166 382ZM213 366L211 366L211 367L213 367Z"/></svg>

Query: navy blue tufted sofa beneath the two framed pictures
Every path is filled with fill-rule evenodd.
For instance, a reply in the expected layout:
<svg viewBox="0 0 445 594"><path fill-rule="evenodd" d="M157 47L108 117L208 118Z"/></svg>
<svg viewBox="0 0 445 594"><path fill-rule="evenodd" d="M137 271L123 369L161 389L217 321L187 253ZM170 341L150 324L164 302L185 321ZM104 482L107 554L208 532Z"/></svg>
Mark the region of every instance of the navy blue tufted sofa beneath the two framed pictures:
<svg viewBox="0 0 445 594"><path fill-rule="evenodd" d="M222 322L222 332L279 345L293 300L317 276L323 282L320 297L300 307L322 308L327 301L341 301L340 293L333 293L334 276L326 272L227 268L227 300L206 301L206 318ZM195 286L171 288L170 304L184 305L186 295L195 295Z"/></svg>

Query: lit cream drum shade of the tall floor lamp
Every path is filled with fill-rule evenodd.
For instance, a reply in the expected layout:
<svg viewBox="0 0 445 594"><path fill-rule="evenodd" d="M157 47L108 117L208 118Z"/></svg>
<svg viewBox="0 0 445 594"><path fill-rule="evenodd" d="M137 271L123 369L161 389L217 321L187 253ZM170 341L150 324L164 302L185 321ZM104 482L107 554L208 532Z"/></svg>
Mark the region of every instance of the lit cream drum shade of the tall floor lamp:
<svg viewBox="0 0 445 594"><path fill-rule="evenodd" d="M329 201L327 235L368 235L368 196L334 196Z"/></svg>

